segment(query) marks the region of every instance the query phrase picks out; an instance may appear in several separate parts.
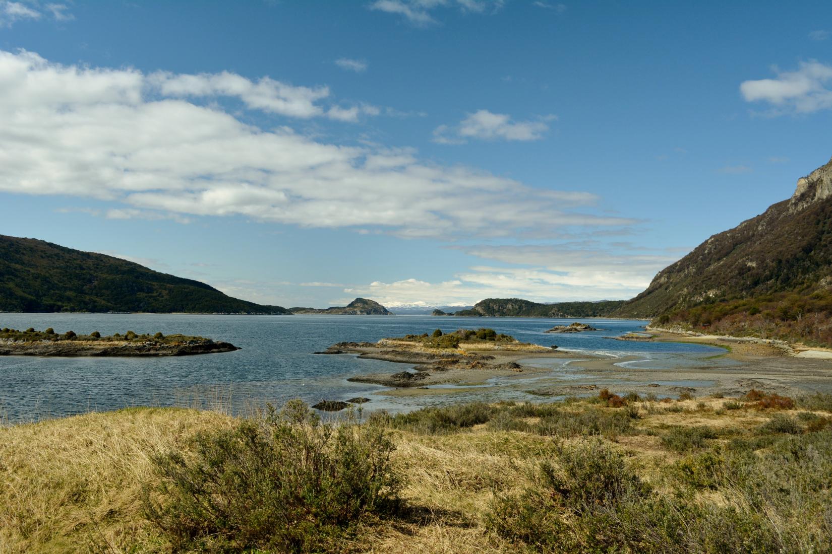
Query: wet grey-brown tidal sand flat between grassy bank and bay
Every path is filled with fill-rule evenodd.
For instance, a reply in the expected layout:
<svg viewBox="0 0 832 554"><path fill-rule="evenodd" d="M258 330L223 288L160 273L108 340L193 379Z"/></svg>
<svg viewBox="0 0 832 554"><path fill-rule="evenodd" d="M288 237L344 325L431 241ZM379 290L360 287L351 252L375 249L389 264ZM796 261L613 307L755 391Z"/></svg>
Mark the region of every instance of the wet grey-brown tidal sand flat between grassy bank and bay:
<svg viewBox="0 0 832 554"><path fill-rule="evenodd" d="M468 349L465 352L470 358L447 362L445 369L428 360L430 355L424 351L407 353L399 348L393 352L390 348L374 346L349 353L409 364L414 375L429 375L407 384L390 381L389 374L358 375L350 380L388 385L389 390L374 394L392 397L446 397L477 391L499 391L507 397L523 394L566 397L597 395L602 389L616 394L652 393L660 398L683 393L732 397L745 395L752 389L789 396L832 393L832 360L829 359L789 355L782 348L756 341L655 332L651 335L649 339L640 340L720 346L725 353L697 358L696 367L645 369L637 367L638 362L644 360L639 355L605 357L576 351L550 351L542 346L517 351ZM478 356L491 359L478 360ZM512 363L520 367L508 369L507 365Z"/></svg>

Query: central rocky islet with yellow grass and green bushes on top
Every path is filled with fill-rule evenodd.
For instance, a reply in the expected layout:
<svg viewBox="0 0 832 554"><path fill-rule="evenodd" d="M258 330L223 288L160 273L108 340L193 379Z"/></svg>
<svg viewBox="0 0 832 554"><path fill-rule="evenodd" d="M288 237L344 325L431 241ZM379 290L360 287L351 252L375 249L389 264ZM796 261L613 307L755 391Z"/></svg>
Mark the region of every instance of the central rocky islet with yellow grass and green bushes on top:
<svg viewBox="0 0 832 554"><path fill-rule="evenodd" d="M399 371L392 375L357 375L348 380L420 389L427 385L481 381L494 376L535 371L534 368L519 364L518 360L538 356L567 356L556 349L557 346L520 342L513 336L483 328L460 329L449 333L437 329L430 335L406 335L378 342L339 342L325 351L315 353L357 354L359 358L411 364L413 371Z"/></svg>

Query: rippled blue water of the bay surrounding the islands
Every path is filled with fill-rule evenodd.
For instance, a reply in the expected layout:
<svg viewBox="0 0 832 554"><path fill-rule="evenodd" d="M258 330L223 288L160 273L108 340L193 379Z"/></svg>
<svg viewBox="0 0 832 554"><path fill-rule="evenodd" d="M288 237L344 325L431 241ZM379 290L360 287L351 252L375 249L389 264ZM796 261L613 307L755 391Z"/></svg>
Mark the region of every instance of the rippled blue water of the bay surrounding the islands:
<svg viewBox="0 0 832 554"><path fill-rule="evenodd" d="M339 341L378 341L408 333L487 326L520 341L561 349L601 353L626 367L697 367L724 351L682 343L614 341L608 337L638 331L644 321L577 320L605 331L547 334L550 327L576 320L528 318L463 318L432 316L190 316L151 314L0 314L0 327L52 327L62 333L100 331L183 333L229 341L242 350L214 355L165 358L38 358L0 356L0 416L11 422L78 414L136 405L183 405L220 401L235 409L290 398L314 403L368 396L364 409L414 409L447 398L390 398L372 395L385 387L350 383L353 375L394 373L406 365L359 360L353 355L314 355ZM566 360L549 360L553 371ZM544 363L536 360L535 363ZM578 370L579 371L579 370ZM482 390L453 395L453 401L494 400L501 381Z"/></svg>

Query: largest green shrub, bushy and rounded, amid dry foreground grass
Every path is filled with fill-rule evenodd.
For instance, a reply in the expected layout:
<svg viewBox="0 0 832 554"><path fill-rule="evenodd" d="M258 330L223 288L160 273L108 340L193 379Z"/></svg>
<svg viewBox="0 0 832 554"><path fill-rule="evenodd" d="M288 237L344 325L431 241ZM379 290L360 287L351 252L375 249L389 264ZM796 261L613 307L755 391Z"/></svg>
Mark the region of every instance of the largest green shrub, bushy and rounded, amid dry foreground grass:
<svg viewBox="0 0 832 554"><path fill-rule="evenodd" d="M146 516L175 551L338 552L365 513L397 507L394 445L376 427L321 425L300 401L154 458Z"/></svg>

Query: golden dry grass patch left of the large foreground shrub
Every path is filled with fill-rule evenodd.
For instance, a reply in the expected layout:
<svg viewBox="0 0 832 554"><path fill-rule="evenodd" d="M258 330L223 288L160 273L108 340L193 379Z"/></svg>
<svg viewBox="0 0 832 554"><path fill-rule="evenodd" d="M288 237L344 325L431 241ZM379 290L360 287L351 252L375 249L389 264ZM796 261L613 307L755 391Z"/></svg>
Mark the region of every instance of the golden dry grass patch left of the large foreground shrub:
<svg viewBox="0 0 832 554"><path fill-rule="evenodd" d="M122 552L152 533L141 483L152 453L232 419L193 409L121 409L0 429L0 552Z"/></svg>

